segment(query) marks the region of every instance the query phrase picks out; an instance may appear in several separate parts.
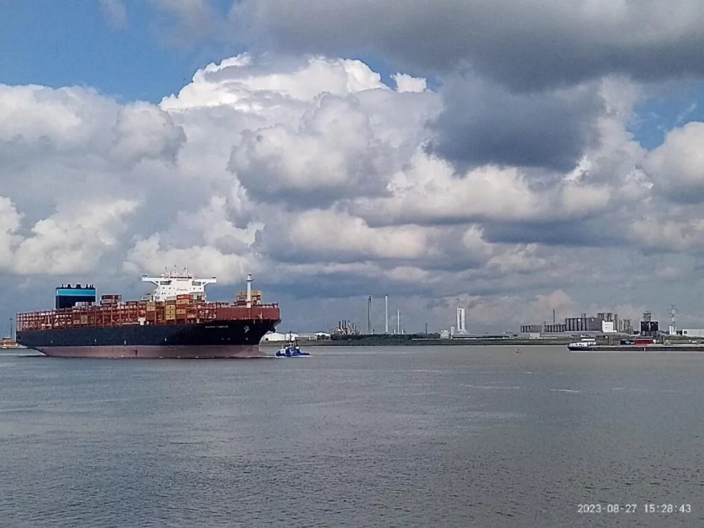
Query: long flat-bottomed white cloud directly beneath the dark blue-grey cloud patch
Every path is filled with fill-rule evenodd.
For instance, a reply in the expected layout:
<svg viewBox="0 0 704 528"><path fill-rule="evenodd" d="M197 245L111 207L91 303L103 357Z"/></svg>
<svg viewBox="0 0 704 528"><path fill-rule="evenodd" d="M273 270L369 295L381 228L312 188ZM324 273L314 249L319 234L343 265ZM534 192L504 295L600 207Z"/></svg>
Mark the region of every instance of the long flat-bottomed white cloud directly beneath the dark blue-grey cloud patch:
<svg viewBox="0 0 704 528"><path fill-rule="evenodd" d="M359 199L351 210L374 224L567 221L600 213L610 200L608 187L582 182L535 191L517 168L485 165L457 177L425 153L411 158L389 187L391 196Z"/></svg>

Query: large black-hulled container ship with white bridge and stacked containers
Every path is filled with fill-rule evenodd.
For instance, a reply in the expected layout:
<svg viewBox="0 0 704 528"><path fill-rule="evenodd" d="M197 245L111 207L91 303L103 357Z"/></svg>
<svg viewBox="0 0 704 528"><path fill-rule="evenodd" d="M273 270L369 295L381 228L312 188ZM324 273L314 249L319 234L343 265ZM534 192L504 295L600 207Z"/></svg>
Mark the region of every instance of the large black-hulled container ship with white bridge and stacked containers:
<svg viewBox="0 0 704 528"><path fill-rule="evenodd" d="M206 300L200 279L184 272L142 277L155 286L140 301L102 295L92 284L56 288L54 310L18 313L18 344L62 358L252 358L259 341L281 322L278 303L262 303L261 291L234 301Z"/></svg>

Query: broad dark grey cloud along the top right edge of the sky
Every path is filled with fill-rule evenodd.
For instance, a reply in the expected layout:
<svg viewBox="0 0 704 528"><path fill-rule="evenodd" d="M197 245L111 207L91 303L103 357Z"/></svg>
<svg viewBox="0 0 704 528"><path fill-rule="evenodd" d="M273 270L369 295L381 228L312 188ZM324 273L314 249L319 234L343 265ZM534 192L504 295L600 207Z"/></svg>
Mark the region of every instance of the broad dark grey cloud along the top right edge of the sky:
<svg viewBox="0 0 704 528"><path fill-rule="evenodd" d="M541 0L245 0L231 34L286 51L381 54L401 68L470 67L512 89L610 73L638 80L704 73L704 5Z"/></svg>

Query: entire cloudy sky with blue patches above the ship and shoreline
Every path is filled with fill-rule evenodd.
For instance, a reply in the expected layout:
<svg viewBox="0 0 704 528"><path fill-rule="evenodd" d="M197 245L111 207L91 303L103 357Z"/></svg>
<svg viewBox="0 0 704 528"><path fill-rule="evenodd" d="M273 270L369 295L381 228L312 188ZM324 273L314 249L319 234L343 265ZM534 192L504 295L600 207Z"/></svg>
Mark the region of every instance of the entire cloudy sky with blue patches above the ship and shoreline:
<svg viewBox="0 0 704 528"><path fill-rule="evenodd" d="M0 334L248 272L288 331L704 327L698 0L0 0ZM4 323L6 321L6 323Z"/></svg>

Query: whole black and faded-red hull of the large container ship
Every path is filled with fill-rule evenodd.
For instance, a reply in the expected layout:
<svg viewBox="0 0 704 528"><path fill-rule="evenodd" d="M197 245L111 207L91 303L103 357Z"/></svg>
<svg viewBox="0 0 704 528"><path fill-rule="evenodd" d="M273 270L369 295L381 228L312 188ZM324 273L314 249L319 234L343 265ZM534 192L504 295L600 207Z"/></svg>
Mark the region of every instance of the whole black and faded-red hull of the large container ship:
<svg viewBox="0 0 704 528"><path fill-rule="evenodd" d="M18 332L19 344L61 358L252 358L273 320L55 328Z"/></svg>

